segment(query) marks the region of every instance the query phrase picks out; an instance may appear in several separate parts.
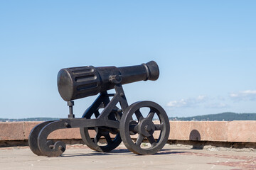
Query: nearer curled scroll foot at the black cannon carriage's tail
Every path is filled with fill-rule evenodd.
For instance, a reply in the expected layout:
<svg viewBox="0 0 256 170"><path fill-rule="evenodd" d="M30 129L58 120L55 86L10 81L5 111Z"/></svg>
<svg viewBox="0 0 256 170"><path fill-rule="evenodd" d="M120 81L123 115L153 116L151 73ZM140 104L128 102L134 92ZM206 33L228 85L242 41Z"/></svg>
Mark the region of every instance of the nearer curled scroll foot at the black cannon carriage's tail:
<svg viewBox="0 0 256 170"><path fill-rule="evenodd" d="M55 121L44 126L44 128L40 131L38 135L38 148L43 155L47 157L58 157L60 156L60 154L63 154L63 152L65 152L64 142L47 141L47 137L50 132L64 128L67 128L65 126L65 121Z"/></svg>

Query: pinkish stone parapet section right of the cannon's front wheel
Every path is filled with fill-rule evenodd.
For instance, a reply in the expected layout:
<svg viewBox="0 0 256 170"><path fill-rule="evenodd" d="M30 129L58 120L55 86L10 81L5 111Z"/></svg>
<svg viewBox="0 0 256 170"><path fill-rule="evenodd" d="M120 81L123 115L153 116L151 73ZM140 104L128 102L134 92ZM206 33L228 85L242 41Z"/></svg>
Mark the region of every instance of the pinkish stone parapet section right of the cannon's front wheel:
<svg viewBox="0 0 256 170"><path fill-rule="evenodd" d="M256 121L171 121L169 140L256 142Z"/></svg>

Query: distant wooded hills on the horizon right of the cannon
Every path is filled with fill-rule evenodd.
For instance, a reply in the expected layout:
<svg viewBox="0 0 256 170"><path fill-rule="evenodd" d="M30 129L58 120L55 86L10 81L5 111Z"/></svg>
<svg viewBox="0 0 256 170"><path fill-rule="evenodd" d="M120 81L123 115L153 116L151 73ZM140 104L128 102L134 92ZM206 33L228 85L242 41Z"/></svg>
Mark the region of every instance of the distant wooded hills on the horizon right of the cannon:
<svg viewBox="0 0 256 170"><path fill-rule="evenodd" d="M197 115L186 118L169 118L169 120L180 120L180 121L232 121L232 120L256 120L256 113L219 113L211 115Z"/></svg>

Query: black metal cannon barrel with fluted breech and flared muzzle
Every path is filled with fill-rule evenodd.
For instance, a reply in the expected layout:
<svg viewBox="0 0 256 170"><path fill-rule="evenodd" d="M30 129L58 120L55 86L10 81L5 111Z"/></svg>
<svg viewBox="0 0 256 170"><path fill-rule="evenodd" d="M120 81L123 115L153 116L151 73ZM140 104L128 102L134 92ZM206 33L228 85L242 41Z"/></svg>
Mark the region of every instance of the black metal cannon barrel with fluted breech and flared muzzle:
<svg viewBox="0 0 256 170"><path fill-rule="evenodd" d="M71 67L60 69L57 84L64 101L94 96L114 88L114 84L129 84L135 81L156 80L159 67L151 61L129 67Z"/></svg>

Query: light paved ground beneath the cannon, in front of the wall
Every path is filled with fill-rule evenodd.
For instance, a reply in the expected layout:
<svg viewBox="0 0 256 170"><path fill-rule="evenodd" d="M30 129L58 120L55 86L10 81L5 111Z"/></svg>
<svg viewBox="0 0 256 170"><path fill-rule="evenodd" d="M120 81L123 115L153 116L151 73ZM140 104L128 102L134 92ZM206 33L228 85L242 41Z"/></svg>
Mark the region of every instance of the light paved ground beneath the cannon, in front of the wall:
<svg viewBox="0 0 256 170"><path fill-rule="evenodd" d="M36 156L28 147L4 147L0 148L0 169L256 169L256 152L166 145L157 154L139 156L124 145L109 153L70 145L61 157L49 158Z"/></svg>

